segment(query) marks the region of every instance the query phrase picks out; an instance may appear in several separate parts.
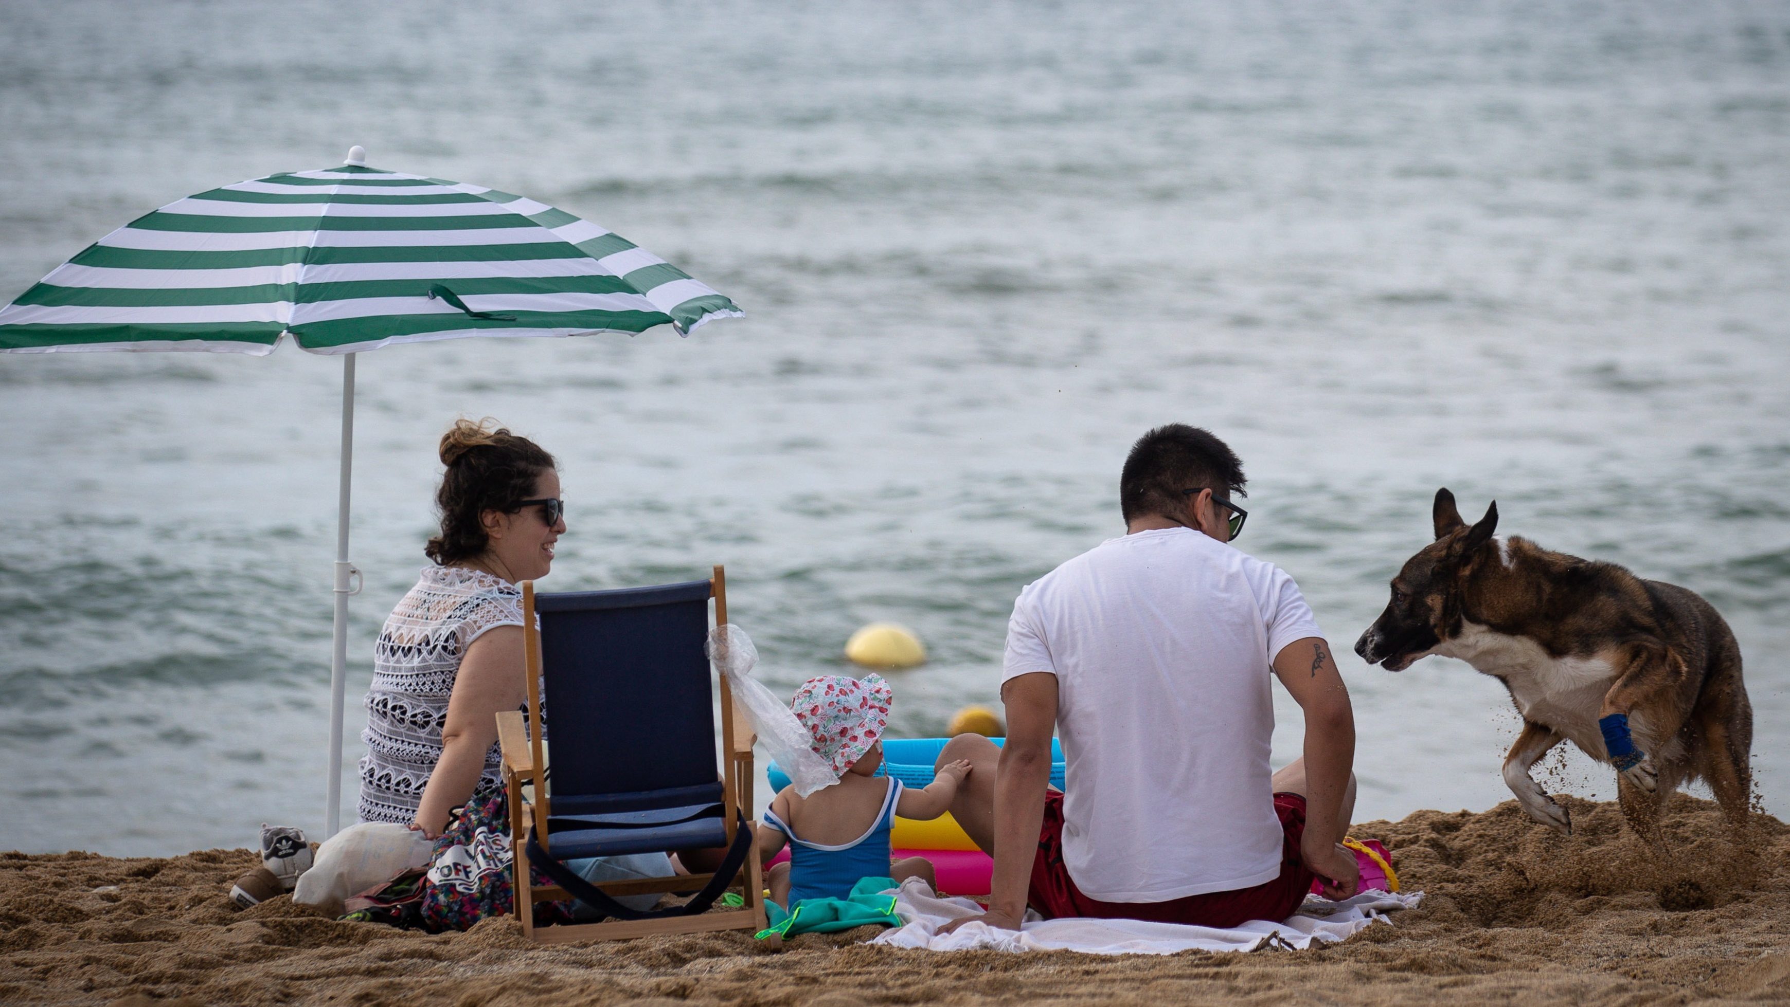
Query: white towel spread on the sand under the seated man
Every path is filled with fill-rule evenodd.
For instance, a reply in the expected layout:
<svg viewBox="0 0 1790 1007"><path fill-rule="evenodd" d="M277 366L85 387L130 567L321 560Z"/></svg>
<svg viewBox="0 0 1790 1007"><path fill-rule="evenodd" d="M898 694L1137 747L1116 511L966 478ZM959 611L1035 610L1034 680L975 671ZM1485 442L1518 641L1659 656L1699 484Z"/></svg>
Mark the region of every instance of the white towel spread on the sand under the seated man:
<svg viewBox="0 0 1790 1007"><path fill-rule="evenodd" d="M1242 927L1183 927L1180 923L1144 923L1142 919L1040 919L1026 910L1020 930L995 930L984 923L970 923L952 934L938 928L952 919L974 916L981 907L967 898L938 898L920 878L908 878L895 891L895 916L904 921L897 930L886 930L872 944L893 948L927 948L933 952L965 952L993 948L997 952L1087 952L1090 955L1172 955L1176 952L1255 952L1260 948L1312 946L1312 941L1341 941L1375 921L1389 923L1385 912L1414 909L1423 893L1366 891L1346 901L1307 896L1291 919L1269 923L1253 919Z"/></svg>

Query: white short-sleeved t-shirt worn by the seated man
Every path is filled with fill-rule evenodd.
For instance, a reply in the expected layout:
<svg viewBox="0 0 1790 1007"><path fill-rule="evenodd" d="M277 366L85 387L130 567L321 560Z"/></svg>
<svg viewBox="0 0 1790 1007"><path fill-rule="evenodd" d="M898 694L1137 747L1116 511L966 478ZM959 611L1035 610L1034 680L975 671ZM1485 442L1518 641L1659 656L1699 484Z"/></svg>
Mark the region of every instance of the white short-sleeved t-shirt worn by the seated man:
<svg viewBox="0 0 1790 1007"><path fill-rule="evenodd" d="M1321 637L1285 571L1189 528L1112 538L1026 585L1001 681L1056 676L1063 862L1101 901L1280 875L1273 658Z"/></svg>

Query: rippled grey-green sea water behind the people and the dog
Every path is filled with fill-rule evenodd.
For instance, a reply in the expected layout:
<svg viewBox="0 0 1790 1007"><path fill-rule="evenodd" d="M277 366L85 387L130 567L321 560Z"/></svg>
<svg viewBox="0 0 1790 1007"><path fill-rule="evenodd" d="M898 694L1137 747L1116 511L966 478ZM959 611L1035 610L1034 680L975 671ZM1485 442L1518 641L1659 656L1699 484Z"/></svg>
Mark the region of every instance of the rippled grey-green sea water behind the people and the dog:
<svg viewBox="0 0 1790 1007"><path fill-rule="evenodd" d="M1122 529L1126 447L1185 420L1242 454L1239 546L1344 660L1360 817L1507 796L1496 681L1348 653L1439 485L1704 592L1790 810L1783 5L0 18L0 299L154 206L362 143L598 220L750 315L363 354L351 735L456 413L560 456L551 587L723 562L779 687L866 621L915 626L909 735L993 699L1013 596ZM0 848L320 825L338 381L292 347L0 358ZM1282 696L1276 758L1298 744ZM1577 755L1552 776L1613 794Z"/></svg>

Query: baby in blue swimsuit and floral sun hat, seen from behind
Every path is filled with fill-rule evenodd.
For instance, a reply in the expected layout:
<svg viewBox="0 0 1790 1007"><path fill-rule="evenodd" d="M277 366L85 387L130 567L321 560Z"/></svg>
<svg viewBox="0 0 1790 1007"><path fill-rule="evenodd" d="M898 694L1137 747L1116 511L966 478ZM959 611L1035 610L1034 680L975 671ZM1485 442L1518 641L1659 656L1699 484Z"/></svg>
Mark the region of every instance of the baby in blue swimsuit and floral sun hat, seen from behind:
<svg viewBox="0 0 1790 1007"><path fill-rule="evenodd" d="M770 860L789 842L789 862L770 873L771 901L793 907L804 898L845 898L859 878L891 876L897 884L920 876L938 891L925 857L890 862L895 816L934 819L950 807L958 783L970 774L967 760L940 767L924 791L909 791L882 766L882 730L893 692L881 676L863 681L840 674L809 678L797 689L789 710L813 737L813 749L832 766L840 782L802 798L784 787L764 814L759 855Z"/></svg>

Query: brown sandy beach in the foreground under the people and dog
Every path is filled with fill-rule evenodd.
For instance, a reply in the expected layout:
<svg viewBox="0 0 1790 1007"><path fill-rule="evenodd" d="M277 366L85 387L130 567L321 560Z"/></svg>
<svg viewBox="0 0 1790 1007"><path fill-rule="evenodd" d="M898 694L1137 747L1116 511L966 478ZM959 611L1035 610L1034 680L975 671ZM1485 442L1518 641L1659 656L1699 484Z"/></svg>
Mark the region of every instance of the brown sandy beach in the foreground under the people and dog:
<svg viewBox="0 0 1790 1007"><path fill-rule="evenodd" d="M1394 851L1421 909L1310 952L1095 957L857 946L743 934L533 946L508 919L426 935L281 896L240 910L247 850L174 859L0 855L7 1003L1688 1003L1790 998L1790 828L1752 864L1715 805L1675 798L1650 857L1613 803L1564 798L1575 835L1513 801L1355 834Z"/></svg>

